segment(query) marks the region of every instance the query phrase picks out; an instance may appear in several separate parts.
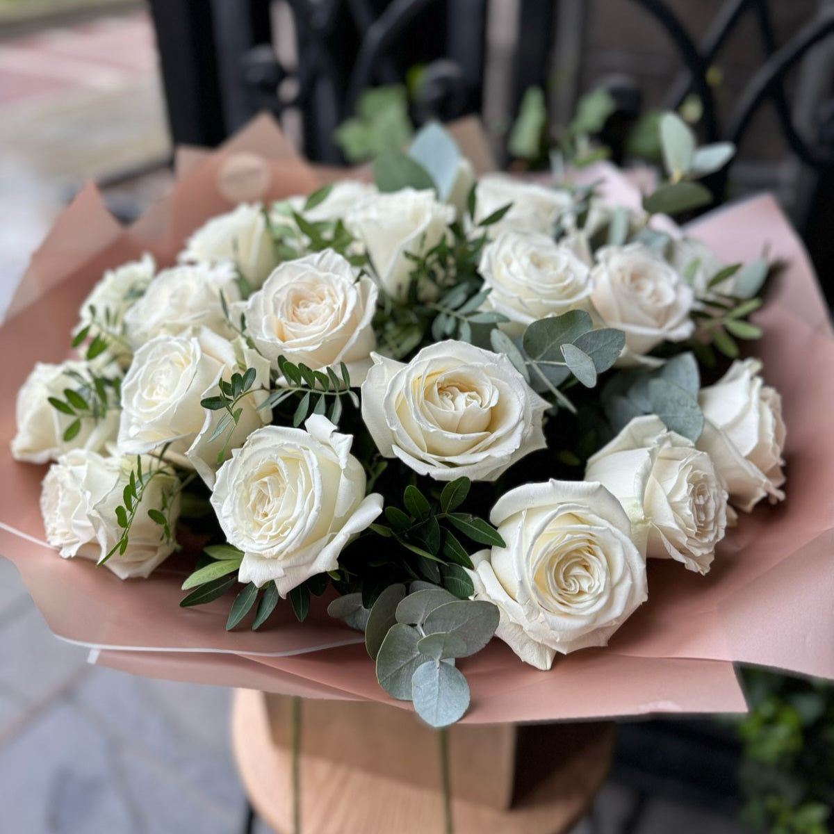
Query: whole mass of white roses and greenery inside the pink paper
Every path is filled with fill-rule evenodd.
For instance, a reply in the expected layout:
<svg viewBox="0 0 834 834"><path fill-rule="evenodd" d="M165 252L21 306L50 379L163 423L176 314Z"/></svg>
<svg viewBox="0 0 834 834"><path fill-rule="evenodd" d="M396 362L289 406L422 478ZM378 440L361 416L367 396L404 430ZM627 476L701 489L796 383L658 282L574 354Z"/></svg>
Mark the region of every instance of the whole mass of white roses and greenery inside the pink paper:
<svg viewBox="0 0 834 834"><path fill-rule="evenodd" d="M79 355L18 392L49 544L126 580L183 549L181 605L234 589L229 630L326 595L435 726L494 635L542 670L605 646L647 560L706 574L736 510L785 495L779 394L736 342L768 264L655 222L703 199L666 150L640 212L477 179L432 125L374 184L242 204L176 263L108 271Z"/></svg>

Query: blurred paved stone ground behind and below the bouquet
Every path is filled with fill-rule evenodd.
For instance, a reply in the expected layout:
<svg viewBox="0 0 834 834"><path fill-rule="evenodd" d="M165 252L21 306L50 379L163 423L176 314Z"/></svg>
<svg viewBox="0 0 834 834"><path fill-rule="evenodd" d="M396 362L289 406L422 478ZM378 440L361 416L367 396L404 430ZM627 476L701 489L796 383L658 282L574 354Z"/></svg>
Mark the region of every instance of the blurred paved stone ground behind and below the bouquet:
<svg viewBox="0 0 834 834"><path fill-rule="evenodd" d="M143 15L0 41L0 319L29 254L78 183L168 149ZM0 834L242 831L229 701L218 687L90 666L85 650L51 635L17 570L0 558ZM595 826L582 821L572 834L615 834L634 802L628 788L606 784ZM637 831L673 828L744 830L654 799ZM269 834L262 823L256 831Z"/></svg>

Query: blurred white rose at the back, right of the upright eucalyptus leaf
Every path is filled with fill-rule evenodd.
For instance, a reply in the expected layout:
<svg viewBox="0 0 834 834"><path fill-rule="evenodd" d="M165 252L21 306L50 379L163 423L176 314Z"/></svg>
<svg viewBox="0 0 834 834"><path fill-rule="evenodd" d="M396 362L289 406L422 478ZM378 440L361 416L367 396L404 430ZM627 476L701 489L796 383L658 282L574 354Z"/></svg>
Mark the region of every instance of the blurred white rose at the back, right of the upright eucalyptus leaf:
<svg viewBox="0 0 834 834"><path fill-rule="evenodd" d="M512 208L498 223L486 229L491 238L510 229L540 232L552 237L561 214L573 206L573 198L563 189L525 183L505 173L487 173L478 180L475 188L475 223L509 203Z"/></svg>

